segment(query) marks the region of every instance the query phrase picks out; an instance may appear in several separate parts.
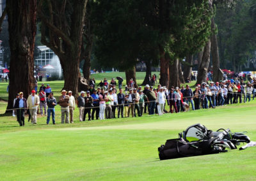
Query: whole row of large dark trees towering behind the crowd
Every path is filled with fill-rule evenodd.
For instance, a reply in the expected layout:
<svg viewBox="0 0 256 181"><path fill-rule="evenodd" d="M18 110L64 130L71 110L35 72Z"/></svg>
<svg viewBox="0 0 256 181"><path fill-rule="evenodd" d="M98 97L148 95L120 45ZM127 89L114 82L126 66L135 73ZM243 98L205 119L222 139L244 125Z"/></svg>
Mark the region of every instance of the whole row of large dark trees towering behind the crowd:
<svg viewBox="0 0 256 181"><path fill-rule="evenodd" d="M63 89L79 91L79 64L90 78L92 51L100 65L135 77L138 60L145 61L148 83L151 66L160 60L161 84L179 86L189 78L193 55L198 54L198 83L206 81L210 54L214 76L220 79L220 59L214 14L223 0L7 0L10 34L10 91L8 108L17 90L33 89L36 24L41 42L60 58ZM254 12L252 10L252 12ZM252 15L254 15L252 13ZM186 57L186 61L180 61Z"/></svg>

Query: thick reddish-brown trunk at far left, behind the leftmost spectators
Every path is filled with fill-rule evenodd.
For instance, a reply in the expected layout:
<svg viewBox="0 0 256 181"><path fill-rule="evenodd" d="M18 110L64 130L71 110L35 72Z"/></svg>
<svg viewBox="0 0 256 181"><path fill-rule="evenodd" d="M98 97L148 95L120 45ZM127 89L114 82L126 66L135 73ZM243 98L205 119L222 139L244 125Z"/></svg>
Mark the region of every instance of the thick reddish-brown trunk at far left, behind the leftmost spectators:
<svg viewBox="0 0 256 181"><path fill-rule="evenodd" d="M13 99L18 92L28 98L35 88L36 0L8 0L6 7L11 51L8 110L13 108Z"/></svg>

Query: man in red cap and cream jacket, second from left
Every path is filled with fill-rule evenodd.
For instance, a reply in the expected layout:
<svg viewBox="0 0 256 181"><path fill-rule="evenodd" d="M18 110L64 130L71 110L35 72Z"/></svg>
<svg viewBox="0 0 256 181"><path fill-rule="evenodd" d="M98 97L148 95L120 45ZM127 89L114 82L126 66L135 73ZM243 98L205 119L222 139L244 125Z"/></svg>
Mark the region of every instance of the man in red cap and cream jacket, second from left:
<svg viewBox="0 0 256 181"><path fill-rule="evenodd" d="M37 108L38 108L38 105L40 104L40 99L36 95L35 90L31 91L31 95L28 96L27 103L28 103L28 109L29 109L30 115L32 117L31 123L36 124Z"/></svg>

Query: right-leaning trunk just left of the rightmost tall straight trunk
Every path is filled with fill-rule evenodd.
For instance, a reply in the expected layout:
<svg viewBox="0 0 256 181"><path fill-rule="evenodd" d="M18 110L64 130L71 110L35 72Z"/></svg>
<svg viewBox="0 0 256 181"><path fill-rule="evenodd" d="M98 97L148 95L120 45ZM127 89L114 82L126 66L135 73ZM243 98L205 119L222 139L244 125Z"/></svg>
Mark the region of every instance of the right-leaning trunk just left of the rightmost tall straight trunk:
<svg viewBox="0 0 256 181"><path fill-rule="evenodd" d="M204 54L202 57L202 62L198 69L196 85L201 84L202 82L207 82L207 73L208 73L208 67L210 63L210 53L211 53L211 41L209 40L207 41L204 47Z"/></svg>

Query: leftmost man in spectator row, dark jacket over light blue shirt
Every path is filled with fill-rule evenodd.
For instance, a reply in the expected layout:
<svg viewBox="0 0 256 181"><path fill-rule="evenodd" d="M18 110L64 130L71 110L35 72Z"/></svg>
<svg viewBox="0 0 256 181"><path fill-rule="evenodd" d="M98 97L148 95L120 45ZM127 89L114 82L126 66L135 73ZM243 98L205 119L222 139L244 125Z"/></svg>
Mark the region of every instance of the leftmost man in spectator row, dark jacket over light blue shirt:
<svg viewBox="0 0 256 181"><path fill-rule="evenodd" d="M24 113L26 112L26 108L28 106L27 106L27 100L23 98L23 92L20 92L19 95L20 95L19 98L16 99L15 101L14 108L17 109L16 110L17 121L19 122L20 126L24 126L25 125Z"/></svg>

